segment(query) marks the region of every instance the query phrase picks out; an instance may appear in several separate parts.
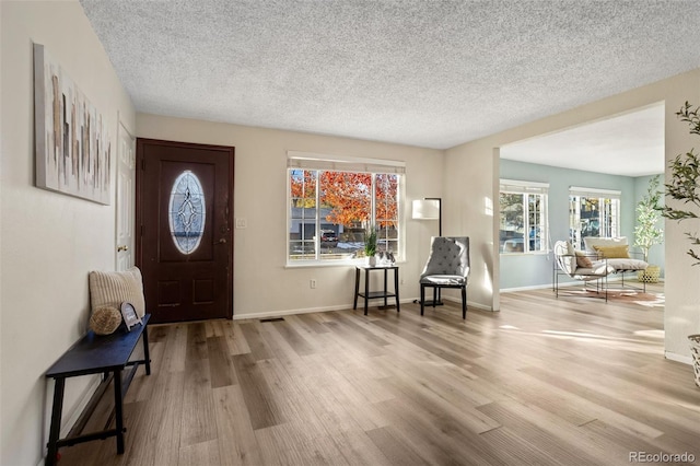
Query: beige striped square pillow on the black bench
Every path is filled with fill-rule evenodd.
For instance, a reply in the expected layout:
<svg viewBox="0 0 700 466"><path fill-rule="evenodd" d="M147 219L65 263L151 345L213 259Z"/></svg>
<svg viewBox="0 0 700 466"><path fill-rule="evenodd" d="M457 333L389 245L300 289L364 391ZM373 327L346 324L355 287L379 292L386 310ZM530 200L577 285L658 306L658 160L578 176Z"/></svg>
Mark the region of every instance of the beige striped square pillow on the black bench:
<svg viewBox="0 0 700 466"><path fill-rule="evenodd" d="M98 307L121 308L122 302L133 304L139 317L145 314L143 279L138 267L125 271L91 271L90 305L95 312Z"/></svg>

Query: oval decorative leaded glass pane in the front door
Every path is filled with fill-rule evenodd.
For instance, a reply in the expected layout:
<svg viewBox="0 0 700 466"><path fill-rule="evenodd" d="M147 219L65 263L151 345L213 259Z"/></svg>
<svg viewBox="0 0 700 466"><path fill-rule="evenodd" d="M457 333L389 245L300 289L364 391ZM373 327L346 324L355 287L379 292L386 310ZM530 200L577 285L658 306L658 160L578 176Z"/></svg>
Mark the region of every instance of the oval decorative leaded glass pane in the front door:
<svg viewBox="0 0 700 466"><path fill-rule="evenodd" d="M205 206L205 190L199 178L189 170L184 171L173 183L168 215L173 242L183 254L191 254L201 242Z"/></svg>

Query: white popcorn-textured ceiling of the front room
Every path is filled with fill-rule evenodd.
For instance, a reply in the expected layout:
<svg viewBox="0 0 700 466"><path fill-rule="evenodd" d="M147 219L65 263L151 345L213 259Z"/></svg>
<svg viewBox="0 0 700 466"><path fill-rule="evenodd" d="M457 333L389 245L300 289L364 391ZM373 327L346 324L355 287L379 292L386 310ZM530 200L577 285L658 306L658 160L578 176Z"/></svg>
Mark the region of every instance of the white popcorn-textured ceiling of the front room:
<svg viewBox="0 0 700 466"><path fill-rule="evenodd" d="M445 149L700 67L697 0L81 0L137 110Z"/></svg>

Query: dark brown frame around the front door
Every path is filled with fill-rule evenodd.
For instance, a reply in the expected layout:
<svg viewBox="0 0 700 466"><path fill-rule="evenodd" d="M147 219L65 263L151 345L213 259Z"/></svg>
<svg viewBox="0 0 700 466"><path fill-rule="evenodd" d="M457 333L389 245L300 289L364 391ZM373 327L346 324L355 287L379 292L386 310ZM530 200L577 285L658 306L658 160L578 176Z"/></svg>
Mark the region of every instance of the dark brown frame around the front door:
<svg viewBox="0 0 700 466"><path fill-rule="evenodd" d="M142 212L142 186L143 170L145 168L145 160L143 159L142 144L155 143L159 145L171 145L179 148L198 148L198 149L213 149L218 151L229 152L229 202L226 203L226 220L231 225L229 231L228 241L231 244L229 247L229 258L226 261L226 318L233 318L234 310L234 290L233 290L233 254L234 254L234 228L233 228L233 193L234 193L234 162L235 162L235 148L232 145L215 145L215 144L200 144L195 142L180 142L180 141L167 141L163 139L150 139L150 138L136 138L136 254L135 264L137 267L141 267L143 264L143 212ZM147 303L148 307L148 303Z"/></svg>

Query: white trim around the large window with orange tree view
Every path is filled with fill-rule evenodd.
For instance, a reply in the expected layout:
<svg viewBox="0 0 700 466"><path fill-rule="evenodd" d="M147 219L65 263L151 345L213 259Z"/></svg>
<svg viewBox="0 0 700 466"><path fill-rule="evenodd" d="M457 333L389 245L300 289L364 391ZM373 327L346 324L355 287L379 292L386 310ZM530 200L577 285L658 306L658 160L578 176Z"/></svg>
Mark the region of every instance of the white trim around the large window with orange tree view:
<svg viewBox="0 0 700 466"><path fill-rule="evenodd" d="M406 162L396 160L384 159L369 159L369 158L351 158L339 156L331 154L320 154L314 152L302 151L288 151L287 152L287 193L285 193L285 210L287 210L287 226L285 226L285 267L319 267L319 266L355 266L364 263L363 257L354 259L322 259L318 254L318 242L316 238L314 242L315 258L303 260L290 260L290 225L291 225L291 212L290 212L290 191L291 191L291 177L290 170L307 170L307 171L335 171L335 172L350 172L350 173L369 173L372 175L372 199L371 199L371 214L376 215L375 211L375 175L389 174L398 175L397 186L397 222L398 222L398 263L405 261L406 257L406 225L404 215L404 203L406 202ZM319 196L319 185L316 184L316 206ZM318 213L317 213L318 214Z"/></svg>

